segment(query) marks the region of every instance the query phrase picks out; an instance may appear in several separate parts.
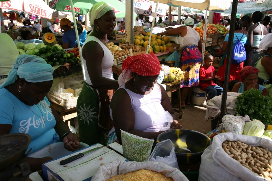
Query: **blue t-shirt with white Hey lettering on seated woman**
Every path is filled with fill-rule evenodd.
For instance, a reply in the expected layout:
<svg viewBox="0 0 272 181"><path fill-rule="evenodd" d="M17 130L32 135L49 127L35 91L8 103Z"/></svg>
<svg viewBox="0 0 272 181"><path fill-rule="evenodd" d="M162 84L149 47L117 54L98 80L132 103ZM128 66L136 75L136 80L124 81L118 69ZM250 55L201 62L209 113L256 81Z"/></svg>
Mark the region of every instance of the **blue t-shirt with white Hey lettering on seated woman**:
<svg viewBox="0 0 272 181"><path fill-rule="evenodd" d="M46 97L41 103L45 104L44 101L50 105ZM28 106L5 88L0 89L0 105L0 124L12 125L10 133L25 133L31 136L26 153L30 148L33 153L52 143L56 134L56 119L49 107L41 106L40 103Z"/></svg>

